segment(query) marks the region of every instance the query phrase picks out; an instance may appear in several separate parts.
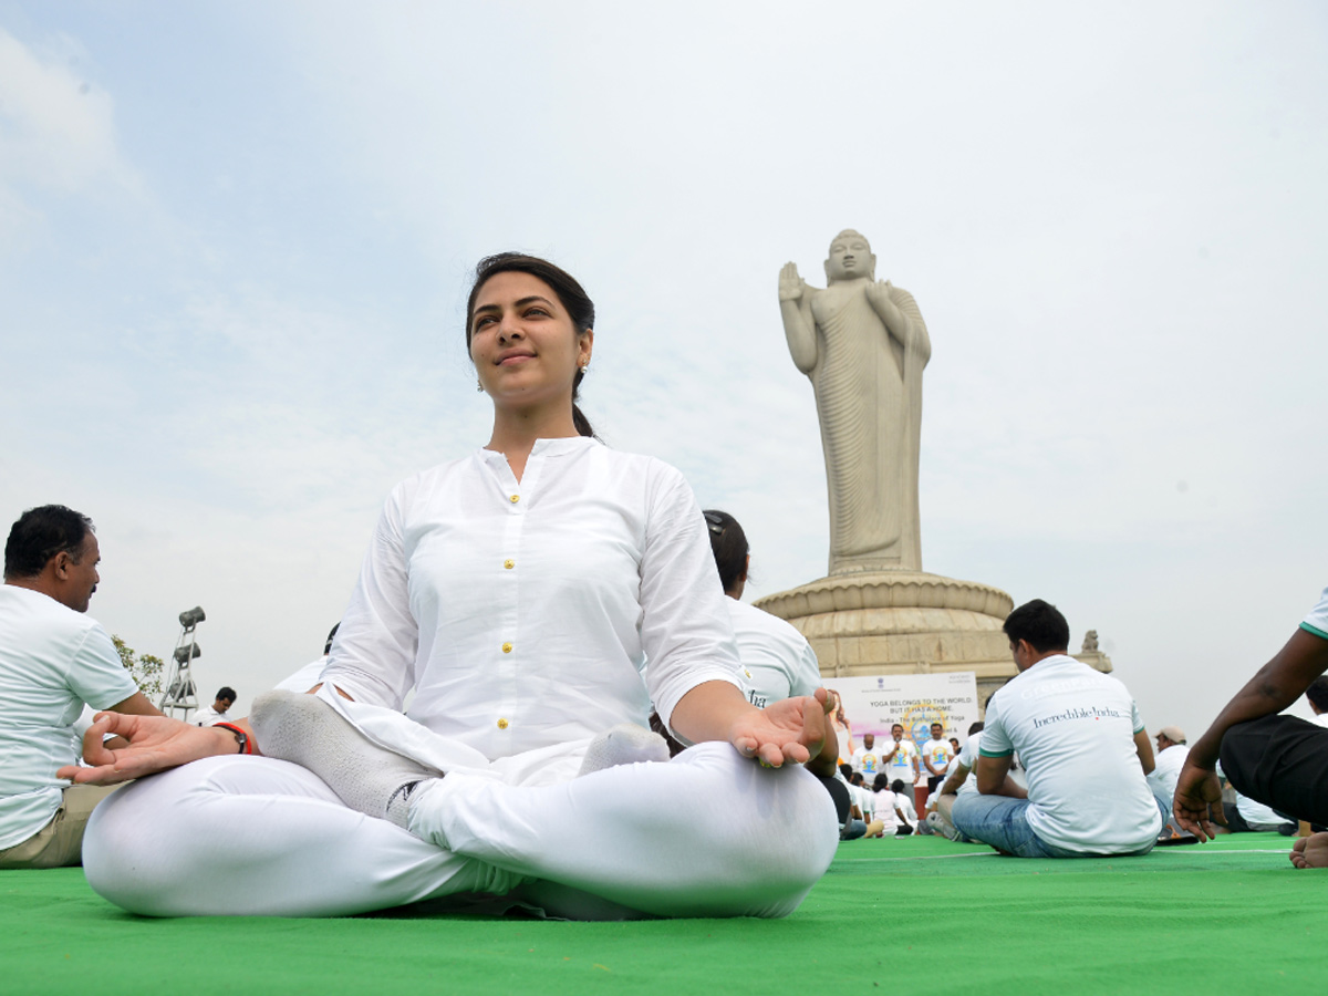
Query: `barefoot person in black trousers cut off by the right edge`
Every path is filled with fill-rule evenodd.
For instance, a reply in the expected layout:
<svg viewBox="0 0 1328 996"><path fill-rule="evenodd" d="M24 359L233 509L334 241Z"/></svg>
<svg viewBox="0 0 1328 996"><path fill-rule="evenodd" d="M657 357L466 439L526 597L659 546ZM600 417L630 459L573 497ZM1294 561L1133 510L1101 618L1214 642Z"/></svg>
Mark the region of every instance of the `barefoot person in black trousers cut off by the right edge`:
<svg viewBox="0 0 1328 996"><path fill-rule="evenodd" d="M1278 714L1325 671L1328 588L1286 645L1236 692L1190 749L1173 803L1182 827L1207 841L1214 823L1226 823L1219 754L1223 772L1240 794L1295 819L1328 825L1328 729ZM1296 841L1291 863L1297 869L1328 867L1328 833Z"/></svg>

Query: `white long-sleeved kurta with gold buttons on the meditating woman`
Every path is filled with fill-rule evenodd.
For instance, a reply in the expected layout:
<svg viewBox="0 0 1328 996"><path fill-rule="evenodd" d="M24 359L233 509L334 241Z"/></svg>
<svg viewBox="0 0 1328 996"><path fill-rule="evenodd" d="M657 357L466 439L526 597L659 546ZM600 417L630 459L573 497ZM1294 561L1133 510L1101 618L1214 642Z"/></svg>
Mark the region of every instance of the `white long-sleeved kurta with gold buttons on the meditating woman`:
<svg viewBox="0 0 1328 996"><path fill-rule="evenodd" d="M416 688L408 716L429 730L526 756L644 726L651 701L668 722L705 681L742 688L729 600L667 463L539 440L518 483L478 450L393 489L323 679L390 709ZM575 774L552 756L546 778Z"/></svg>

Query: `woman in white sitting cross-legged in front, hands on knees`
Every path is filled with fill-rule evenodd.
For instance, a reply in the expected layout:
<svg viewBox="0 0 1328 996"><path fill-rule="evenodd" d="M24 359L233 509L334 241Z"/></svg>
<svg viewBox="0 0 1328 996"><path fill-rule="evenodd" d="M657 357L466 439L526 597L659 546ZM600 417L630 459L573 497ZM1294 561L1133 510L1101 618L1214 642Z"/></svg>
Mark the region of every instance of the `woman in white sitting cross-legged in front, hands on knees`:
<svg viewBox="0 0 1328 996"><path fill-rule="evenodd" d="M600 445L575 409L592 323L556 267L481 263L467 343L493 436L393 490L317 699L264 706L256 746L300 764L244 753L247 722L100 717L86 741L98 766L70 776L162 773L94 815L98 892L149 915L444 896L586 918L798 904L837 838L801 764L823 737L823 693L764 710L744 699L691 490ZM614 758L612 741L606 761L600 734L644 726L651 701L696 746L615 765L636 756ZM102 749L108 730L131 746ZM292 746L292 730L308 734ZM615 766L576 777L587 752ZM390 795L364 790L398 768ZM206 894L186 884L199 869L216 871Z"/></svg>

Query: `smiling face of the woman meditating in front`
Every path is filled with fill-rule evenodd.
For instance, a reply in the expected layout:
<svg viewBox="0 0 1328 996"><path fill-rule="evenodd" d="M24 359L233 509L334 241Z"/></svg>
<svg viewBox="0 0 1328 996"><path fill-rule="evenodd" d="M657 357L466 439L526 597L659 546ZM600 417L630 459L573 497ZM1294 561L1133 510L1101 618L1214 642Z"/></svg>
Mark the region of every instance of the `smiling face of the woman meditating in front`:
<svg viewBox="0 0 1328 996"><path fill-rule="evenodd" d="M594 332L572 327L554 288L538 276L495 274L475 295L470 359L495 405L570 400L572 378L590 363L594 340Z"/></svg>

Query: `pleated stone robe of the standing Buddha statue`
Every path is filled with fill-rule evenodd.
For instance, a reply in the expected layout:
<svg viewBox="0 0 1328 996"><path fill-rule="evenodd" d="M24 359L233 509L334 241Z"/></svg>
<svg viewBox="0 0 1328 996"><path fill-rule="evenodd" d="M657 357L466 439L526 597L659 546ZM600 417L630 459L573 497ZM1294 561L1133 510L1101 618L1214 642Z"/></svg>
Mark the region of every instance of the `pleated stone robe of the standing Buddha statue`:
<svg viewBox="0 0 1328 996"><path fill-rule="evenodd" d="M830 572L922 570L918 454L927 329L912 295L891 288L910 328L891 335L861 282L811 299L811 371L830 491Z"/></svg>

